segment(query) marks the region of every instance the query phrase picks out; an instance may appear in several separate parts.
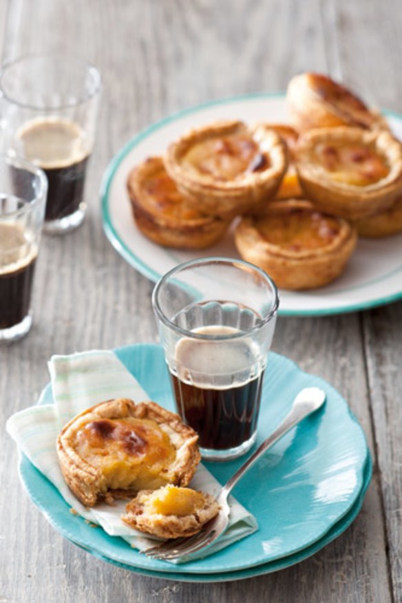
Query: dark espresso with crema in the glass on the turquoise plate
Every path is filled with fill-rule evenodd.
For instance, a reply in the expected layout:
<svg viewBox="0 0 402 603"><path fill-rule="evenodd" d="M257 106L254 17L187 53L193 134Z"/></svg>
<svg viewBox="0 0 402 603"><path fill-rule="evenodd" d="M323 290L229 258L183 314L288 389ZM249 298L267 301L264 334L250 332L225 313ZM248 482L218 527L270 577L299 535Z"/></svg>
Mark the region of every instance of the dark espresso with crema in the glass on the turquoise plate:
<svg viewBox="0 0 402 603"><path fill-rule="evenodd" d="M213 326L196 332L233 331ZM174 366L170 374L178 412L198 433L202 448L225 450L250 440L257 429L264 379L264 366L250 339L181 339Z"/></svg>

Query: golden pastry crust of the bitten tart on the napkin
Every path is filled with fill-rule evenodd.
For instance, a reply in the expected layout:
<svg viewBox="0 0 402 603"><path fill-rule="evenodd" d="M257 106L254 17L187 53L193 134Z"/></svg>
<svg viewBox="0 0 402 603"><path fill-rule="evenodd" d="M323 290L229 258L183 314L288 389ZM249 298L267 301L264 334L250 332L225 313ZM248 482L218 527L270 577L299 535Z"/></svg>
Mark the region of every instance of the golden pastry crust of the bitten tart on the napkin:
<svg viewBox="0 0 402 603"><path fill-rule="evenodd" d="M116 497L127 497L136 494L140 488L135 483L131 483L127 491L125 489L109 488L108 478L113 477L112 471L108 478L105 476L102 467L93 461L96 454L100 461L106 457L109 458L109 464L112 467L118 465L121 455L110 452L107 449L112 442L108 432L119 427L131 418L138 419L139 422L147 422L146 425L156 425L156 429L165 437L169 447L173 450L173 458L160 458L160 473L154 476L160 483L172 483L176 485L187 485L197 469L200 462L200 452L198 449L198 436L195 432L184 425L180 417L173 412L169 412L158 404L147 401L134 403L130 399L118 398L109 400L88 408L81 414L78 414L63 427L63 430L57 438L57 453L61 471L67 485L70 487L76 498L87 507L93 507L100 500L112 500ZM100 438L103 448L100 452L96 449L92 451L92 458L81 456L79 450L80 433L89 429L92 425L98 425L96 437ZM117 426L117 427L116 427ZM109 439L108 439L109 438ZM136 442L142 445L140 451L136 451ZM152 442L143 442L140 436L137 436L135 429L126 435L124 442L129 454L138 454L138 466L147 463L147 449ZM144 460L142 460L142 458ZM147 471L148 467L142 467ZM129 469L127 470L129 471Z"/></svg>

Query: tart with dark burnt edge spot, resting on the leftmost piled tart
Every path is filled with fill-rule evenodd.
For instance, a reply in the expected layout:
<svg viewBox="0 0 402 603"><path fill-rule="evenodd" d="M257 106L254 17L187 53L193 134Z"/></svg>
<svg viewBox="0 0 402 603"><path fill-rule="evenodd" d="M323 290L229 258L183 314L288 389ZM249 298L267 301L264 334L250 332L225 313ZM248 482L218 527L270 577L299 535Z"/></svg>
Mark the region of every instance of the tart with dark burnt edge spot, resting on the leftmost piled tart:
<svg viewBox="0 0 402 603"><path fill-rule="evenodd" d="M233 217L275 195L288 164L272 129L225 120L191 129L169 145L165 166L198 211Z"/></svg>

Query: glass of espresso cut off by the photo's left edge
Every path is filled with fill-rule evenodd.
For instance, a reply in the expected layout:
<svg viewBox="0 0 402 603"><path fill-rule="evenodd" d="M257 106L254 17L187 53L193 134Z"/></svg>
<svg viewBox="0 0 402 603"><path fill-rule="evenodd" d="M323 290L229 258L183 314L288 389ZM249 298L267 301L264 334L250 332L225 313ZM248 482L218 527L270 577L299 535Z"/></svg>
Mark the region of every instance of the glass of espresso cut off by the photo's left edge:
<svg viewBox="0 0 402 603"><path fill-rule="evenodd" d="M45 214L45 173L0 156L0 343L28 333L31 290Z"/></svg>

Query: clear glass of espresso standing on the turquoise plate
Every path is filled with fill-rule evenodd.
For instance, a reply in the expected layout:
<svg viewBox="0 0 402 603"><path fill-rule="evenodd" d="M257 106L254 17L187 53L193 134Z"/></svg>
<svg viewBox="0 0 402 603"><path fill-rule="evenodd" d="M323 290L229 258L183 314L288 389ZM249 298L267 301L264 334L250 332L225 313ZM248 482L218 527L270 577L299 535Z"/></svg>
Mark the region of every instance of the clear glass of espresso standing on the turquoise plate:
<svg viewBox="0 0 402 603"><path fill-rule="evenodd" d="M206 257L169 271L152 301L176 408L203 458L244 454L257 436L275 284L248 262Z"/></svg>

